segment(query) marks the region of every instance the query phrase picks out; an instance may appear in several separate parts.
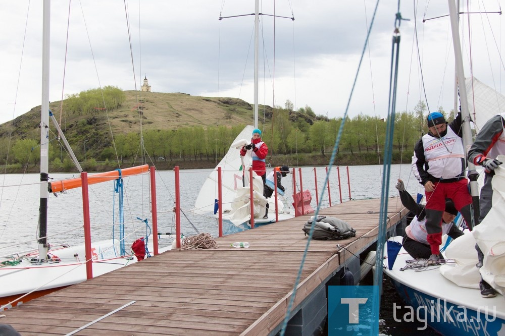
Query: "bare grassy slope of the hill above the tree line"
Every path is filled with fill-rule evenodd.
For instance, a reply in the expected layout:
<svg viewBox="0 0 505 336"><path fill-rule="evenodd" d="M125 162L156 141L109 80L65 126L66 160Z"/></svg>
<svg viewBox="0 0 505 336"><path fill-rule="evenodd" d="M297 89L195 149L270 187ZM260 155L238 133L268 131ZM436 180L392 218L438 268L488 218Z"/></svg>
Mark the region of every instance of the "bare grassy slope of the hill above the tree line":
<svg viewBox="0 0 505 336"><path fill-rule="evenodd" d="M126 134L130 132L158 129L174 130L180 127L235 126L252 124L252 105L237 98L217 98L190 96L185 93L160 93L124 91L126 101L123 106L107 113L97 109L92 114L72 114L60 118L61 102L51 102L49 108L60 122L65 136L79 139L95 137L97 143L109 143L110 132ZM140 101L140 104L138 103ZM141 110L139 115L138 110ZM0 136L6 139L13 134L16 139L38 139L40 137L40 108L33 107L12 122L0 125ZM263 106L260 106L263 109ZM272 108L267 106L267 115ZM262 114L262 113L261 113ZM260 117L260 123L262 123ZM88 127L86 127L88 126ZM91 128L89 126L92 126ZM51 124L51 129L55 128Z"/></svg>

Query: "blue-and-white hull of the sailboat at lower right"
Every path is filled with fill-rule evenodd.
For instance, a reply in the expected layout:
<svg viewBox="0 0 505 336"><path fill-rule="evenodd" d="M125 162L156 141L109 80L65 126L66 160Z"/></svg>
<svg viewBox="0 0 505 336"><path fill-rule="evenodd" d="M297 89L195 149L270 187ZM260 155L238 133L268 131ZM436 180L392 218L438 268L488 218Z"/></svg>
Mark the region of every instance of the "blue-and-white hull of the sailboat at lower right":
<svg viewBox="0 0 505 336"><path fill-rule="evenodd" d="M392 279L398 294L414 314L443 335L502 335L505 333L503 296L482 298L478 289L459 287L440 273L439 266L425 270L401 270L413 258L403 248L391 270L384 261L384 272ZM443 267L457 267L455 264ZM397 303L402 305L401 303ZM425 315L426 314L426 315ZM406 317L396 316L408 321ZM408 322L406 322L408 323Z"/></svg>

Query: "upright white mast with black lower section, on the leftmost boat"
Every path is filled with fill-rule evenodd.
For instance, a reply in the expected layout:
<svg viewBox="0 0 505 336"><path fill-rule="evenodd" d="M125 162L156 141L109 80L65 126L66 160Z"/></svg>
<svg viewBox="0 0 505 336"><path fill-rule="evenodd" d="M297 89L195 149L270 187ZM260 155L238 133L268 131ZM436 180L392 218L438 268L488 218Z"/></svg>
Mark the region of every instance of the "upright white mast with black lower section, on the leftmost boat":
<svg viewBox="0 0 505 336"><path fill-rule="evenodd" d="M42 104L40 113L40 207L38 257L46 259L47 244L47 197L49 172L49 42L51 37L51 0L43 3L42 26Z"/></svg>

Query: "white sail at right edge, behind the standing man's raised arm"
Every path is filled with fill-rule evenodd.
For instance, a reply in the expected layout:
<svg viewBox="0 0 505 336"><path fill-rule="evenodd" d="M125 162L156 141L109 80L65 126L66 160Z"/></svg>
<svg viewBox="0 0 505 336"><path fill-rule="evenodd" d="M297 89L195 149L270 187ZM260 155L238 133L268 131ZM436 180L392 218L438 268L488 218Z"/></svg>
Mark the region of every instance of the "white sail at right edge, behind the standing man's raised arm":
<svg viewBox="0 0 505 336"><path fill-rule="evenodd" d="M475 77L473 80L467 78L465 82L470 116L479 133L490 118L505 112L505 96Z"/></svg>

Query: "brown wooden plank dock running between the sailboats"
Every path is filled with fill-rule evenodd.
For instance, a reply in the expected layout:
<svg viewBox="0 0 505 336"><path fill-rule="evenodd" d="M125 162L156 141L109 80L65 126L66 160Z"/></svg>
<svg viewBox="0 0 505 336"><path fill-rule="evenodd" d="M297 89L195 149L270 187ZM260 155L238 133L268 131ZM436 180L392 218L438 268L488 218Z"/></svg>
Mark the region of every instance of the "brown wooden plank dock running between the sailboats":
<svg viewBox="0 0 505 336"><path fill-rule="evenodd" d="M320 211L347 221L357 235L311 241L290 316L316 289L324 291L352 257L337 244L359 254L376 241L379 208L379 199L367 199ZM389 199L388 227L407 212L398 198ZM275 334L306 249L301 228L308 218L218 238L218 249L173 250L148 258L4 311L0 323L22 335ZM230 247L236 241L247 241L250 248Z"/></svg>

